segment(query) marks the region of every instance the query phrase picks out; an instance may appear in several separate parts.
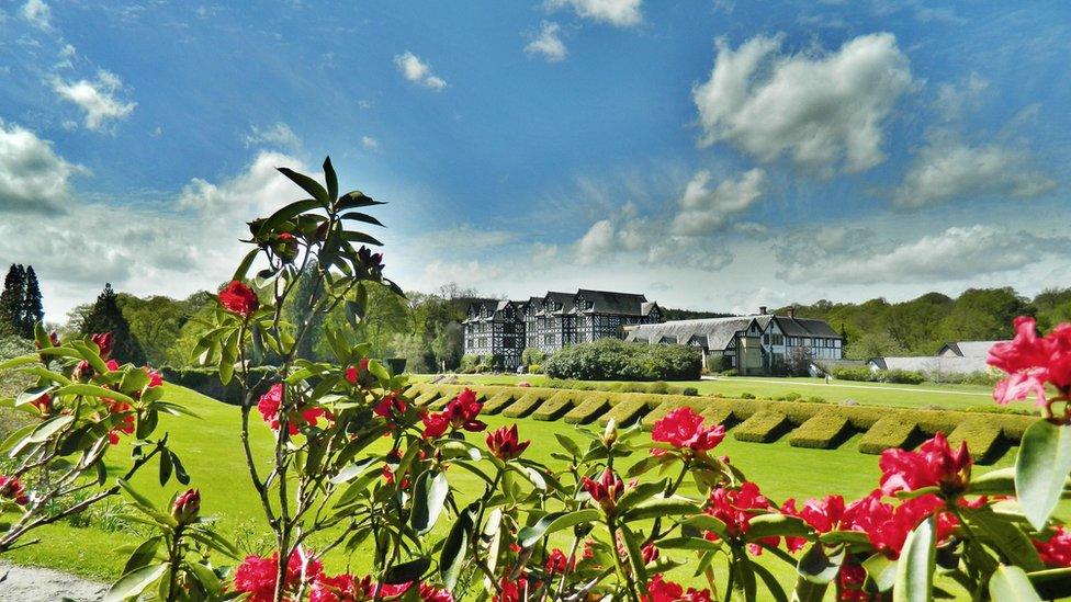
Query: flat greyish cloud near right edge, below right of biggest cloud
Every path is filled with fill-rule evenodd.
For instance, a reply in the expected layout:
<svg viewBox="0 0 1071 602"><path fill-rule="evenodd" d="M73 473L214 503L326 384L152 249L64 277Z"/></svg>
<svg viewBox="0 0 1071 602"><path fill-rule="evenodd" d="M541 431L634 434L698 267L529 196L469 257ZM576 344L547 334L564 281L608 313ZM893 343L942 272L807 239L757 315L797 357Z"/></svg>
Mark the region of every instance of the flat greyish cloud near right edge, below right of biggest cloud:
<svg viewBox="0 0 1071 602"><path fill-rule="evenodd" d="M1055 180L1033 169L1025 152L997 145L936 141L920 151L892 194L900 207L922 207L970 196L1040 196Z"/></svg>

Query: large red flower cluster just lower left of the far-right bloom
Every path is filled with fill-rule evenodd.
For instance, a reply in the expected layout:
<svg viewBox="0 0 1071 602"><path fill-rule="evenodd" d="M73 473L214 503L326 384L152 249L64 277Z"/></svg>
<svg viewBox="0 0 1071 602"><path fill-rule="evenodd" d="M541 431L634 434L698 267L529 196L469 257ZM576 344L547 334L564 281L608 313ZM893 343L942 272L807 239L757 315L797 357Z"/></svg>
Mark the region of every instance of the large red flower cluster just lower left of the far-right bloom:
<svg viewBox="0 0 1071 602"><path fill-rule="evenodd" d="M955 497L967 490L972 464L966 441L952 452L944 433L937 433L915 452L886 450L881 453L878 462L881 491L891 496L897 491L937 486L946 497Z"/></svg>

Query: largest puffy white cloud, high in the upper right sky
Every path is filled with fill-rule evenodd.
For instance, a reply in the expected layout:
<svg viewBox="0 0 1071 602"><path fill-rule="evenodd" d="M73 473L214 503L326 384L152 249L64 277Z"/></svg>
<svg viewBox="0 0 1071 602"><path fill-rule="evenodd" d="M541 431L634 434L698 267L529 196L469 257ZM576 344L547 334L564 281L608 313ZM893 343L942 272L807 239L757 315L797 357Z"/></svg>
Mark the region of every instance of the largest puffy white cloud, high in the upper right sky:
<svg viewBox="0 0 1071 602"><path fill-rule="evenodd" d="M884 160L884 122L915 86L892 34L859 36L835 53L781 55L781 36L717 45L710 79L692 91L700 145L726 141L765 162L785 156L822 175Z"/></svg>

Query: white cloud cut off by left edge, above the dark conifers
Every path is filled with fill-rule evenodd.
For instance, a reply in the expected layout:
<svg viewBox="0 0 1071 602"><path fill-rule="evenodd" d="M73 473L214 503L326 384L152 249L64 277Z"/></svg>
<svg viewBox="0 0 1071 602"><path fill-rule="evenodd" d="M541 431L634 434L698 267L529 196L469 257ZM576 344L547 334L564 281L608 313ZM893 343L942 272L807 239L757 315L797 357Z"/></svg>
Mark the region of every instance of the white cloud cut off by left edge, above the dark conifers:
<svg viewBox="0 0 1071 602"><path fill-rule="evenodd" d="M4 212L55 212L70 194L72 175L86 168L56 155L52 143L0 120L0 208Z"/></svg>

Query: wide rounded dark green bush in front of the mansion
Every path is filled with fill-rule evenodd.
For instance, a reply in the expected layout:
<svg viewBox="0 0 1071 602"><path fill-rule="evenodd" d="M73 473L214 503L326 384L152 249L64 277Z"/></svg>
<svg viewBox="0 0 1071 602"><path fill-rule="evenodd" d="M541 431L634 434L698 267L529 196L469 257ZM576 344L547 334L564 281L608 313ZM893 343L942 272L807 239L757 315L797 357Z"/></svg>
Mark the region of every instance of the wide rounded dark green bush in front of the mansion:
<svg viewBox="0 0 1071 602"><path fill-rule="evenodd" d="M700 359L687 345L600 339L559 351L543 370L555 378L583 380L698 380Z"/></svg>

